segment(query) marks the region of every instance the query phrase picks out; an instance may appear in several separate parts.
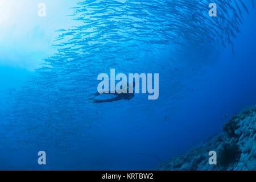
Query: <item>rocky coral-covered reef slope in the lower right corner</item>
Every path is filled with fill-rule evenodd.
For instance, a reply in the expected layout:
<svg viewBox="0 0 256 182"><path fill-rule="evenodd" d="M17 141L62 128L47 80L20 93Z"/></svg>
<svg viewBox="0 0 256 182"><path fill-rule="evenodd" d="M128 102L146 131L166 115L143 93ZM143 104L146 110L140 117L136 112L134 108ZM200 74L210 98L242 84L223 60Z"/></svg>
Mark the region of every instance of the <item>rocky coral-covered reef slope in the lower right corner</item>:
<svg viewBox="0 0 256 182"><path fill-rule="evenodd" d="M256 170L256 106L247 107L225 123L223 133L158 166L158 170ZM209 151L217 164L210 165Z"/></svg>

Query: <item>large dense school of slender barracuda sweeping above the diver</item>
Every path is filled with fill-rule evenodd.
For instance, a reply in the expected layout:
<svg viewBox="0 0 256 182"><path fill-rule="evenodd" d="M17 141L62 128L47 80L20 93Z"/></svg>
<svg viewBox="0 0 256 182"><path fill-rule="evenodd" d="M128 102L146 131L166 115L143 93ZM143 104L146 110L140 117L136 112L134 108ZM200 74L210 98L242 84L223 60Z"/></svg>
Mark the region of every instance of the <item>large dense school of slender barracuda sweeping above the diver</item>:
<svg viewBox="0 0 256 182"><path fill-rule="evenodd" d="M1 134L1 146L13 140L21 149L18 146L24 144L40 145L38 138L43 138L44 144L49 141L49 146L67 150L65 142L88 139L86 131L97 117L97 106L88 104L88 95L96 92L97 75L110 68L154 72L151 68L160 63L148 59L168 47L184 53L216 45L233 48L243 13L249 13L254 0L214 2L217 17L208 15L210 2L205 0L79 2L68 15L76 25L57 30L53 46L58 52L44 60L26 85L11 92L9 111L1 112L1 127L8 133ZM170 59L166 69L172 66ZM173 73L168 79L178 85L180 75ZM177 97L175 92L172 97Z"/></svg>

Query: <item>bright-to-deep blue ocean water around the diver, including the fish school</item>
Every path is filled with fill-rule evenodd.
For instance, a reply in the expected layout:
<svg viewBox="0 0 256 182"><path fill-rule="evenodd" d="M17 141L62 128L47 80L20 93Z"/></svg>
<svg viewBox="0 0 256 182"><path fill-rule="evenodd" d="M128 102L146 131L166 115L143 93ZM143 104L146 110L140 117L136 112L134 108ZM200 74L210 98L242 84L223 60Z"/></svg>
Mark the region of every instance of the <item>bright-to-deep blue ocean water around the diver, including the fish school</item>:
<svg viewBox="0 0 256 182"><path fill-rule="evenodd" d="M208 1L46 1L38 17L39 2L27 1L19 23L6 1L0 169L154 169L220 133L256 102L256 12L250 1L249 14L240 1L216 2L209 17ZM158 100L89 102L111 68L159 73Z"/></svg>

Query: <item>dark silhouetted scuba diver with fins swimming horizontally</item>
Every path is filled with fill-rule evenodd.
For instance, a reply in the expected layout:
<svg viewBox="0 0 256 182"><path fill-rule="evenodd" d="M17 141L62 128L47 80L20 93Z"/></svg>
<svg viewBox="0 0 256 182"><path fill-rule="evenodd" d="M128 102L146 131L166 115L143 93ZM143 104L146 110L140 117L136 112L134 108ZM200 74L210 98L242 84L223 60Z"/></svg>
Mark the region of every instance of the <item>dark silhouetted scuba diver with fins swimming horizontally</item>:
<svg viewBox="0 0 256 182"><path fill-rule="evenodd" d="M93 94L92 98L89 98L90 101L92 101L93 103L106 103L106 102L114 102L114 101L119 101L119 100L131 100L131 98L134 97L134 93L129 93L129 84L125 85L126 86L126 91L127 93L117 93L117 91L115 91L115 93L102 93L102 94L112 94L116 97L114 98L109 98L106 100L97 100L95 99L95 97L100 96L101 94L96 92ZM133 88L135 87L135 82L133 82ZM122 89L122 88L121 88Z"/></svg>

